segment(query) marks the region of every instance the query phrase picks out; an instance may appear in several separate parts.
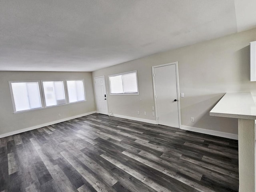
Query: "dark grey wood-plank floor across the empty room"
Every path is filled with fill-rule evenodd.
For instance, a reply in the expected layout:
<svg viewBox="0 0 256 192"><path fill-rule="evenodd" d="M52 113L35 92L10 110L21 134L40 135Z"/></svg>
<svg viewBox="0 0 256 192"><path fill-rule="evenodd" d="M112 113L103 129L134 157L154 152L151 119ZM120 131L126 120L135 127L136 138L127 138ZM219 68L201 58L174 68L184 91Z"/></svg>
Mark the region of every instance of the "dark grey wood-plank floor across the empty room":
<svg viewBox="0 0 256 192"><path fill-rule="evenodd" d="M238 192L238 142L92 114L0 139L0 192Z"/></svg>

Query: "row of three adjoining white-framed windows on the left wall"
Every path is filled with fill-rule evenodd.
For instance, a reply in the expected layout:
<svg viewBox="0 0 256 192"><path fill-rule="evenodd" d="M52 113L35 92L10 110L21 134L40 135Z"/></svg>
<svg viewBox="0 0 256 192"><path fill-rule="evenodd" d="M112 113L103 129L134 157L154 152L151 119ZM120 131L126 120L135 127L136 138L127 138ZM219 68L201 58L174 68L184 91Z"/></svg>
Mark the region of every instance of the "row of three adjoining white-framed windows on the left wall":
<svg viewBox="0 0 256 192"><path fill-rule="evenodd" d="M65 80L10 81L9 85L14 113L86 100L84 80L66 80L66 85Z"/></svg>

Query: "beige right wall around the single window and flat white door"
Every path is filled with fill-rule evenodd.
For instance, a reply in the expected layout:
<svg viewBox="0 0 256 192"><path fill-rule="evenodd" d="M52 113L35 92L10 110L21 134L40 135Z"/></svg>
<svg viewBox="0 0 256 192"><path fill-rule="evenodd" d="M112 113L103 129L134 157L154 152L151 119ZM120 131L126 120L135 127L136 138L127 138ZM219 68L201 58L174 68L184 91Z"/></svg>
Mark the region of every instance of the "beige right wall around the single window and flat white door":
<svg viewBox="0 0 256 192"><path fill-rule="evenodd" d="M97 70L92 76L105 75L109 91L108 75L138 70L140 95L108 94L109 111L155 120L151 109L154 106L151 66L178 61L180 92L185 94L185 98L180 98L182 125L238 134L237 119L213 117L209 112L226 92L256 95L256 82L249 80L249 42L254 40L256 29ZM142 112L140 115L138 110ZM194 123L190 117L195 118Z"/></svg>

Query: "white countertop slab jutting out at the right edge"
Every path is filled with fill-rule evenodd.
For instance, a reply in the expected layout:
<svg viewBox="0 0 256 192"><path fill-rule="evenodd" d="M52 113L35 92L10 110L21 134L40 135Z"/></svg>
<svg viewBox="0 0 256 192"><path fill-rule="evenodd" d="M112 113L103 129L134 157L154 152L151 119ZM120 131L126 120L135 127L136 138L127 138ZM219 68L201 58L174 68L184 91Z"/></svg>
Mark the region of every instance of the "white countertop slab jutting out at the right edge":
<svg viewBox="0 0 256 192"><path fill-rule="evenodd" d="M210 111L210 116L256 119L256 104L251 93L226 93Z"/></svg>

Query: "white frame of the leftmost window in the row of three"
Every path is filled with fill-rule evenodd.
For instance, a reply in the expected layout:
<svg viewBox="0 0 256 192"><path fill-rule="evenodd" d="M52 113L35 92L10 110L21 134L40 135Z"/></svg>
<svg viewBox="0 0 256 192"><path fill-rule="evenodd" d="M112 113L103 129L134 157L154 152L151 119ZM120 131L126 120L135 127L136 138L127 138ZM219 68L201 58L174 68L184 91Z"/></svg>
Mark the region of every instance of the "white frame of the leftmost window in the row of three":
<svg viewBox="0 0 256 192"><path fill-rule="evenodd" d="M35 109L16 111L16 105L15 105L14 95L13 95L13 90L12 90L12 83L29 83L29 82L37 82L38 83L40 100L41 100L41 107L40 108L35 108ZM12 99L12 108L13 108L14 113L23 113L23 112L28 112L28 111L41 110L41 109L45 108L40 80L9 81L9 87L10 87L10 94L11 94L11 99Z"/></svg>

